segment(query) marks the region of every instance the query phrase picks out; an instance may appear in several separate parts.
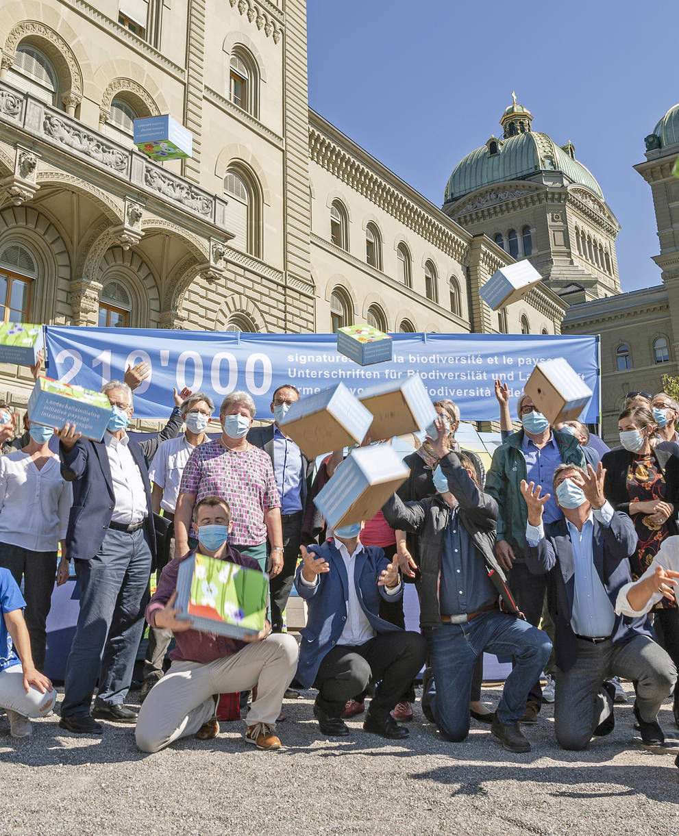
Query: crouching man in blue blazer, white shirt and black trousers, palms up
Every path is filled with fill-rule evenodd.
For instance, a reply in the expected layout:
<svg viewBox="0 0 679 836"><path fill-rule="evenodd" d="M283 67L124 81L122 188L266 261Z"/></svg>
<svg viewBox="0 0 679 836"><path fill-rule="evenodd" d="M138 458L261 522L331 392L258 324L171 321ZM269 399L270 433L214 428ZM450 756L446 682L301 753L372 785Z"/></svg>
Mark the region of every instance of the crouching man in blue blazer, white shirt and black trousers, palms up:
<svg viewBox="0 0 679 836"><path fill-rule="evenodd" d="M380 619L380 599L401 597L403 584L397 563L389 563L381 548L360 543L360 528L336 528L322 546L302 547L304 563L294 583L309 604L309 619L301 630L296 678L319 689L314 717L323 734L349 734L340 717L346 701L379 681L365 732L408 737L391 711L421 669L426 645L419 633Z"/></svg>

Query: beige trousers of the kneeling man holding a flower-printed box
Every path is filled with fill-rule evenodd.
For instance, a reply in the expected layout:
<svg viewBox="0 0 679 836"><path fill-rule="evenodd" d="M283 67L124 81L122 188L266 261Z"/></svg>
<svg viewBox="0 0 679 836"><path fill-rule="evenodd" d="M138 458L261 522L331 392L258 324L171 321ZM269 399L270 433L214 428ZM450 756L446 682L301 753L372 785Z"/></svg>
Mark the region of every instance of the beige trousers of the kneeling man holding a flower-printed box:
<svg viewBox="0 0 679 836"><path fill-rule="evenodd" d="M179 737L195 734L215 711L215 694L250 691L257 699L248 726L275 725L283 694L297 670L299 649L291 635L277 633L212 662L172 662L139 712L135 740L142 752L158 752Z"/></svg>

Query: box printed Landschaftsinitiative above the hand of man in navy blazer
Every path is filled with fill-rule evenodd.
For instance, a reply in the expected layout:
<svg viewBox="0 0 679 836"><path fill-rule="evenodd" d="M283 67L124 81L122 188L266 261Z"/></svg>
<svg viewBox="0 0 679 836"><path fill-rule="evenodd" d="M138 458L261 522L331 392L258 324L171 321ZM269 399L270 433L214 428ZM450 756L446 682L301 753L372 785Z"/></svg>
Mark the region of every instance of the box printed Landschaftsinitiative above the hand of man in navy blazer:
<svg viewBox="0 0 679 836"><path fill-rule="evenodd" d="M109 399L103 392L39 377L28 399L32 423L54 426L74 424L86 438L101 441L111 416Z"/></svg>

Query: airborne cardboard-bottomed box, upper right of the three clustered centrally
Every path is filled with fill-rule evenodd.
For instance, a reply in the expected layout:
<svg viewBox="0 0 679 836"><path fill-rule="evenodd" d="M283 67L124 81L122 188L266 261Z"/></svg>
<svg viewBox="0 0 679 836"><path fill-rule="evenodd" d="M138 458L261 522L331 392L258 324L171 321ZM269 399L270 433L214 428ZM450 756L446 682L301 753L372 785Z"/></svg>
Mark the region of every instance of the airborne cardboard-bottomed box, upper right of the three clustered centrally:
<svg viewBox="0 0 679 836"><path fill-rule="evenodd" d="M426 430L436 418L420 375L370 386L359 400L373 415L367 433L373 441Z"/></svg>

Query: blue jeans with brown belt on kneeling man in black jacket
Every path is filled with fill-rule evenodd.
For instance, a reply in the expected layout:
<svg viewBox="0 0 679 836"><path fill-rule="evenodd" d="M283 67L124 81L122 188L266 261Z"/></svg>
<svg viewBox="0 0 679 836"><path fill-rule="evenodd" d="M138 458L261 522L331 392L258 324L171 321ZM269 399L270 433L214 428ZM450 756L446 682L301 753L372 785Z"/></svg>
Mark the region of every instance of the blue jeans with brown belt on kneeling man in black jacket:
<svg viewBox="0 0 679 836"><path fill-rule="evenodd" d="M469 733L469 696L477 658L484 650L516 660L495 710L505 725L523 715L530 686L549 659L549 636L526 621L498 609L464 624L442 624L422 630L434 676L427 696L436 724L446 740L464 740Z"/></svg>

